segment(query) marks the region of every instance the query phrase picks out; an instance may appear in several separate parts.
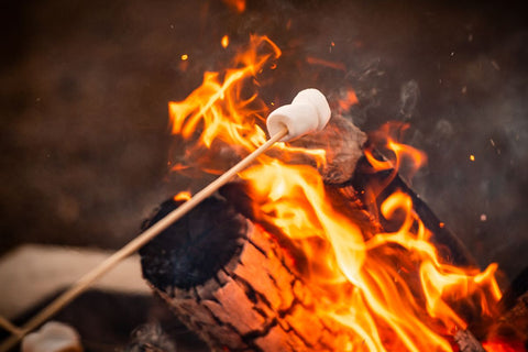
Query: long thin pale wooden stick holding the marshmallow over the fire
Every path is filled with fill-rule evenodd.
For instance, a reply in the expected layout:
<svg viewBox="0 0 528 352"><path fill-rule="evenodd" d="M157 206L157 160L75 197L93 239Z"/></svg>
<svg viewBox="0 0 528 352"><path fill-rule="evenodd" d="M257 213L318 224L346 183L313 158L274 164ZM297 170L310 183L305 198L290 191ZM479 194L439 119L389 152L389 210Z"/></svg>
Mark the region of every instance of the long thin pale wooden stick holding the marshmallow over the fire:
<svg viewBox="0 0 528 352"><path fill-rule="evenodd" d="M160 234L163 230L168 228L173 222L180 219L188 211L190 211L193 208L195 208L204 199L210 197L215 191L217 191L220 187L226 185L238 173L240 173L241 170L246 168L258 155L261 155L262 153L267 151L273 144L275 144L275 142L279 141L286 134L288 134L288 130L286 128L284 128L283 131L280 131L279 133L272 136L266 143L261 145L253 153L251 153L250 155L244 157L237 165L231 167L228 172L226 172L220 177L218 177L216 180L210 183L207 187L205 187L199 193L197 193L193 198L190 198L189 200L184 202L179 208L169 212L165 218L161 219L155 224L153 224L151 228L148 228L143 233L138 235L135 239L130 241L121 250L113 253L111 256L109 256L101 264L94 267L90 272L86 273L69 289L64 292L61 296L58 296L55 300L53 300L48 306L46 306L44 309L42 309L33 318L31 318L20 329L19 334L11 336L2 344L0 344L0 352L7 352L11 348L13 348L25 334L31 332L33 329L37 328L40 324L42 324L44 321L46 321L48 318L51 318L57 311L59 311L64 306L68 305L77 296L82 294L88 287L90 287L90 285L94 282L96 282L102 275L105 275L107 272L112 270L122 260L124 260L129 255L133 254L139 249L141 249L148 241L151 241L157 234Z"/></svg>

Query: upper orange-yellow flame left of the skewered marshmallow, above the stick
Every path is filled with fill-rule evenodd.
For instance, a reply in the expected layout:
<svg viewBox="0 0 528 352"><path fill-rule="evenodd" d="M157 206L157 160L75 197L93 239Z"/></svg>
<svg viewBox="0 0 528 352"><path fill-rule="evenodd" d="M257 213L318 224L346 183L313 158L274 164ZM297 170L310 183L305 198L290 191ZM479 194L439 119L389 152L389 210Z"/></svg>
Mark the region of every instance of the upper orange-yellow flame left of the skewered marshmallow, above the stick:
<svg viewBox="0 0 528 352"><path fill-rule="evenodd" d="M267 54L257 55L263 46ZM280 50L266 36L252 36L251 48L234 59L234 66L228 69L220 82L220 73L206 73L204 82L185 101L169 102L168 109L173 134L189 140L201 131L199 143L210 147L213 140L241 145L248 151L265 142L264 131L256 125L264 121L267 108L257 100L256 95L244 98L244 79L255 76L268 59L280 56Z"/></svg>

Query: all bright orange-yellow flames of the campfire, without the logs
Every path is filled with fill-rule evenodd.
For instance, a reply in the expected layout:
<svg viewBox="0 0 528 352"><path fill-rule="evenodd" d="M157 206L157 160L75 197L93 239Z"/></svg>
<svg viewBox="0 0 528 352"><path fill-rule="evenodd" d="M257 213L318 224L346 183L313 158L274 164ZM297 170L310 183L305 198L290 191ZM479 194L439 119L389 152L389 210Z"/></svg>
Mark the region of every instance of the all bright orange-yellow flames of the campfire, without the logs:
<svg viewBox="0 0 528 352"><path fill-rule="evenodd" d="M274 67L279 56L268 37L252 36L250 48L235 56L234 68L206 73L187 99L169 103L172 132L187 147L173 170L221 173L211 167L209 153L229 150L243 156L266 141L262 127L268 107L256 92L257 84L249 82ZM349 98L356 101L353 92ZM383 140L392 155L383 160L365 151L373 172L395 176L402 162L411 160L413 174L427 161L424 153L397 142L396 130L387 124L373 136ZM297 153L310 155L312 165L289 164ZM318 297L315 314L348 331L336 351L452 351L449 337L468 327L453 302L466 301L492 315L501 298L497 266L480 272L442 261L404 193L391 195L380 208L399 229L362 229L332 205L315 167L323 162L323 151L279 143L239 176L251 187L256 220L276 226L308 257L301 275ZM373 197L383 186L374 187Z"/></svg>

